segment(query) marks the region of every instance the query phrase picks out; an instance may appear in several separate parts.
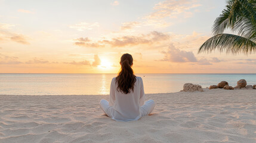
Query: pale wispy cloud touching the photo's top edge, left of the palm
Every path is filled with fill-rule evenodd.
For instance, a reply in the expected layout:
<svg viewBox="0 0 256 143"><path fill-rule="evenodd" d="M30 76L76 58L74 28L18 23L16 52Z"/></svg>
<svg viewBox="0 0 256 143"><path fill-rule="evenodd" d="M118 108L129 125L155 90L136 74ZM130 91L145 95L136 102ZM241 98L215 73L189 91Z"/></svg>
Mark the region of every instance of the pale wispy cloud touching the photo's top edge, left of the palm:
<svg viewBox="0 0 256 143"><path fill-rule="evenodd" d="M146 18L161 19L165 17L177 17L177 14L184 14L184 17L188 17L188 15L191 16L192 14L189 10L199 6L201 4L198 4L196 0L166 0L156 4L153 8L155 12Z"/></svg>

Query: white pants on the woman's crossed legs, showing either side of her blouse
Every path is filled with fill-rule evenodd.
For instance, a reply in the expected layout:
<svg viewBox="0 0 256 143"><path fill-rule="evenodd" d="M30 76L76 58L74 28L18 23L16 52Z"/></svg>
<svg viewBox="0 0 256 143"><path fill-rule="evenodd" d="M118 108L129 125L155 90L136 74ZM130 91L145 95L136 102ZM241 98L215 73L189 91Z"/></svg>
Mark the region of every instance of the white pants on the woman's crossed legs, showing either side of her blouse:
<svg viewBox="0 0 256 143"><path fill-rule="evenodd" d="M107 114L107 116L111 117L112 108L109 106L109 101L101 100L100 101L101 110ZM141 116L147 116L150 114L155 108L155 102L153 100L148 100L144 105L141 106Z"/></svg>

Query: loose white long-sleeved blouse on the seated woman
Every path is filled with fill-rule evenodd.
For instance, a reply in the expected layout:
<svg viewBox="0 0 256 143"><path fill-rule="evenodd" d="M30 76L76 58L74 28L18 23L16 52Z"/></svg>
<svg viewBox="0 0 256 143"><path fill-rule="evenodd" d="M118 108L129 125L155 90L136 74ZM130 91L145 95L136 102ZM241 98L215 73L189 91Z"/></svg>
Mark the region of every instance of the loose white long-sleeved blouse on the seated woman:
<svg viewBox="0 0 256 143"><path fill-rule="evenodd" d="M111 118L120 121L138 120L141 117L141 106L144 104L145 94L141 77L135 77L134 92L124 94L117 91L116 77L110 85L110 107L113 107Z"/></svg>

